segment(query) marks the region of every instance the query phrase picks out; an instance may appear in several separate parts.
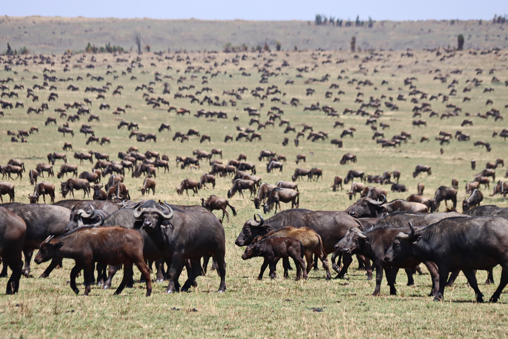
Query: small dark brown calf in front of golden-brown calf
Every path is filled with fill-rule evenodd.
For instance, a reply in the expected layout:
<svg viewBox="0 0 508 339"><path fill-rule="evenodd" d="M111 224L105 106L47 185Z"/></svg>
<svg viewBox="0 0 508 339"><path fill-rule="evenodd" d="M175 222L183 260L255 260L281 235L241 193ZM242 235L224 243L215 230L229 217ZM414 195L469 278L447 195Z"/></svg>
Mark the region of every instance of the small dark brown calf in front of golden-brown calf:
<svg viewBox="0 0 508 339"><path fill-rule="evenodd" d="M302 270L303 278L307 279L307 271L304 269L305 262L303 261L303 253L304 250L301 241L295 238L268 237L259 240L258 236L252 240L250 245L247 246L245 252L242 254L242 259L247 260L253 257L265 258L258 276L258 280L262 280L263 273L265 272L267 266L270 267L270 278L275 279L275 268L277 266L277 262L280 259L289 259L291 257L295 261L296 280L299 280ZM288 266L284 264L284 279L287 278Z"/></svg>

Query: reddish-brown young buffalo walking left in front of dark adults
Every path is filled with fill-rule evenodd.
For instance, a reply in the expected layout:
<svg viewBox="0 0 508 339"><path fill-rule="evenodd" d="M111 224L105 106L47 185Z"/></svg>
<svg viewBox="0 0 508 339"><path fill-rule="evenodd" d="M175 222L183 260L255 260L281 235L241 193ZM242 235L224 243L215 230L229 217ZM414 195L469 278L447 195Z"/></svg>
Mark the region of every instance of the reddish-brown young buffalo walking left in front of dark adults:
<svg viewBox="0 0 508 339"><path fill-rule="evenodd" d="M71 270L71 288L78 294L76 275L84 270L84 295L90 292L94 263L104 265L123 264L123 279L115 291L120 294L133 276L133 264L138 267L146 281L146 296L152 292L150 270L143 259L143 238L136 230L114 227L78 228L53 240L49 236L41 243L35 262L40 264L52 258L74 259Z"/></svg>

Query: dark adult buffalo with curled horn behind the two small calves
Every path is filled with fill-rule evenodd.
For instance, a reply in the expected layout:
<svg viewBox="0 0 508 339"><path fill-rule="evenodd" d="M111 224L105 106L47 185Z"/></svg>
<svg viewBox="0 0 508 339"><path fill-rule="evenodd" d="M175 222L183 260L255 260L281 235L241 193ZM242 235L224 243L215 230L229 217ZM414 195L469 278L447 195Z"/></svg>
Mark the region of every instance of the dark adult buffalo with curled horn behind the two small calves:
<svg viewBox="0 0 508 339"><path fill-rule="evenodd" d="M332 253L335 244L344 237L350 227L361 226L358 221L342 211L311 211L294 208L283 210L266 221L261 215L259 217L260 222L250 219L243 224L242 231L235 240L237 246L246 246L258 235L264 236L270 231L278 231L283 227L308 227L320 235L325 253ZM343 266L337 278L343 279L352 262L351 255L343 256Z"/></svg>

